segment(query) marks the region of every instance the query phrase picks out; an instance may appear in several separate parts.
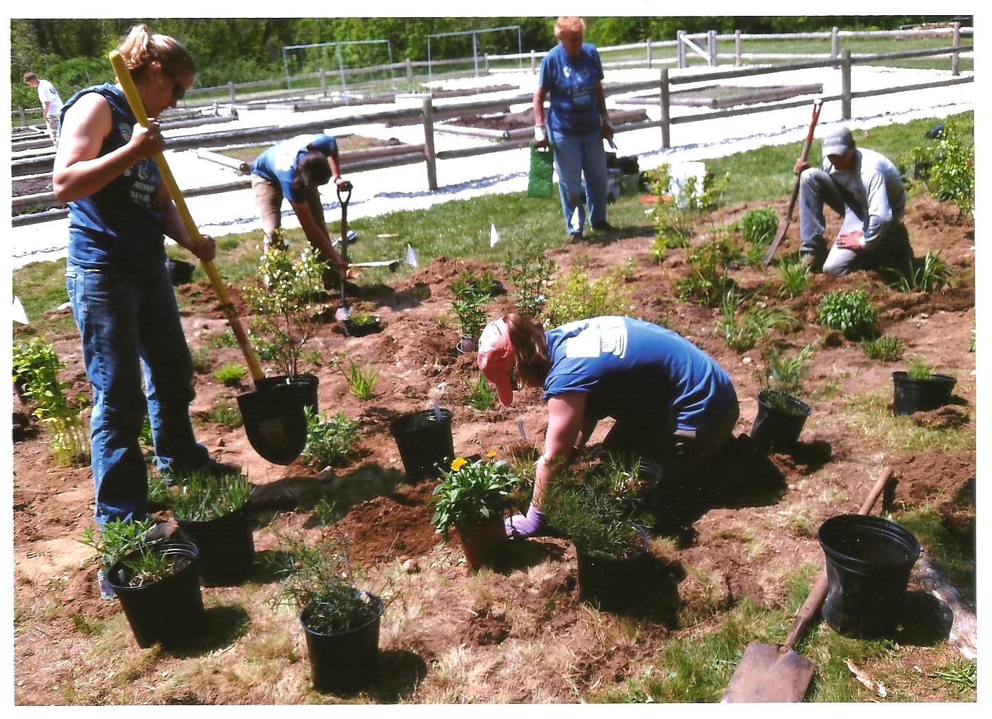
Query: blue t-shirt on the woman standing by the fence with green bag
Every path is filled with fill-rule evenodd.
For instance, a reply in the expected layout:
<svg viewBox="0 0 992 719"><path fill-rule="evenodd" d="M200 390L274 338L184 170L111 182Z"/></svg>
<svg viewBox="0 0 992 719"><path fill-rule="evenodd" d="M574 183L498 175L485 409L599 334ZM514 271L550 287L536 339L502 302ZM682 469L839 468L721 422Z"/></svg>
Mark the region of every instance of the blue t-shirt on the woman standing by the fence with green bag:
<svg viewBox="0 0 992 719"><path fill-rule="evenodd" d="M599 53L591 43L570 58L560 43L541 61L541 87L549 94L548 128L566 135L598 130L599 97L596 85L603 79Z"/></svg>

